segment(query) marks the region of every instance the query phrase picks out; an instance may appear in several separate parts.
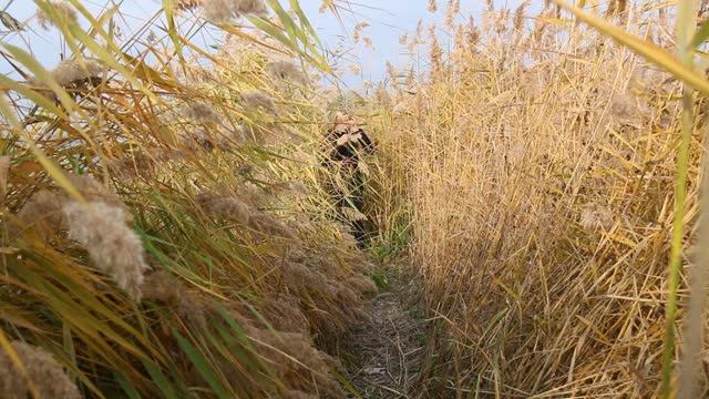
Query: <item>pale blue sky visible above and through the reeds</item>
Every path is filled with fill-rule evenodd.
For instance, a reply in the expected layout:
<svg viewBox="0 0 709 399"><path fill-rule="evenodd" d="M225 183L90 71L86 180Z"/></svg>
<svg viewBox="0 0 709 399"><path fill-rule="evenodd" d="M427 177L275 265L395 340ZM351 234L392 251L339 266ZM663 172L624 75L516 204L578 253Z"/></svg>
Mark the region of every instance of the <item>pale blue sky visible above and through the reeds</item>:
<svg viewBox="0 0 709 399"><path fill-rule="evenodd" d="M280 0L284 4L288 0ZM121 14L125 19L124 27L140 25L141 21L153 16L161 7L161 2L156 0L84 0L84 6L92 12L99 12L106 2L121 3ZM419 19L423 19L427 24L436 22L442 25L443 13L446 0L439 0L439 11L431 14L427 11L428 0L358 0L348 6L347 1L339 1L343 8L350 12L343 11L342 22L330 12L319 13L321 0L301 0L301 7L311 23L316 27L323 44L329 49L335 49L339 43L345 43L343 49L347 50L347 59L361 69L361 75L356 76L351 72L345 80L352 85L364 79L370 81L379 81L386 73L386 61L392 61L397 65L404 65L410 62L411 54L407 54L404 49L399 44L399 37L404 31L413 31ZM504 3L504 1L496 1ZM510 7L516 7L520 0L508 0ZM534 3L543 3L542 0L533 1ZM0 0L0 6L9 11L20 21L27 21L32 18L37 10L33 1L30 0ZM481 0L462 0L461 14L459 18L467 18L467 16L479 16L484 2ZM371 25L367 28L362 35L370 37L374 48L367 49L363 44L351 47L351 41L345 38L345 34L351 34L352 28L360 21L367 21ZM343 30L345 28L345 30ZM130 28L123 32L126 37ZM445 40L445 33L441 33ZM196 38L196 40L199 38ZM217 35L218 39L218 35ZM44 31L34 21L30 22L28 30L22 33L10 33L4 35L2 40L30 48L34 55L48 68L53 66L59 60L62 52L66 49L62 48L62 40L56 37L55 31ZM210 40L204 38L203 40ZM7 73L10 70L6 61L0 61L1 70Z"/></svg>

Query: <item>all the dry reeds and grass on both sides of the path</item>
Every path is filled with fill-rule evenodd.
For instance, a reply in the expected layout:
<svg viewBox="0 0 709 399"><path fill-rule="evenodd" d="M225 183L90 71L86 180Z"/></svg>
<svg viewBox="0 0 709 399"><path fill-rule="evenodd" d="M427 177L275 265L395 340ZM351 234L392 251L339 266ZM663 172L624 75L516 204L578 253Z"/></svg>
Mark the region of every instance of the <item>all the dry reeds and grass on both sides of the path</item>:
<svg viewBox="0 0 709 399"><path fill-rule="evenodd" d="M312 79L330 73L317 38L298 9L174 3L119 42L109 14L37 0L30 23L73 51L56 66L3 42L23 79L0 78L0 382L34 397L343 397L332 355L367 319L372 270L321 187L332 91ZM449 0L442 28L400 38L425 62L389 64L371 103L339 98L371 115L379 144L363 209L374 254L408 245L423 283L421 395L670 395L675 330L681 342L695 327L685 351L706 362L696 295L684 319L707 258L707 103L681 82L709 84L656 51L676 47L669 3L586 4L649 61L556 6L493 3L461 24ZM364 29L353 40L371 45ZM706 389L701 366L685 375Z"/></svg>

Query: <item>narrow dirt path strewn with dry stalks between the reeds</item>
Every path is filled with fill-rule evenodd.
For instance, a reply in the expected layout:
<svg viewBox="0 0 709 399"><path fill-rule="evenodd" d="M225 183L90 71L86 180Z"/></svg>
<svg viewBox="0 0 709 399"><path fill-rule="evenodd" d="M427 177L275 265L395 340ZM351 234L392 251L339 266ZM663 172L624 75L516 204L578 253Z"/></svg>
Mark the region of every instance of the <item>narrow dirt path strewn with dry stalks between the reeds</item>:
<svg viewBox="0 0 709 399"><path fill-rule="evenodd" d="M362 398L417 398L414 382L424 352L422 308L411 304L410 289L397 277L372 300L371 324L353 332L356 356L350 381Z"/></svg>

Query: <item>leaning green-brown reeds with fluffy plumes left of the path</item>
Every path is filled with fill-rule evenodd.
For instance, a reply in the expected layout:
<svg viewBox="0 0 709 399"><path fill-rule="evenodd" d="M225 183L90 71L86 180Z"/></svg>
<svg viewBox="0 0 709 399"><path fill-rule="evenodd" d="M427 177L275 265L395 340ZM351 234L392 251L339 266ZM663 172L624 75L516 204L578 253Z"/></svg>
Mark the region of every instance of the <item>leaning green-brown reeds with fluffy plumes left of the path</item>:
<svg viewBox="0 0 709 399"><path fill-rule="evenodd" d="M7 34L69 51L2 43L0 391L343 397L376 286L320 188L330 71L297 2L165 1L127 37L35 3Z"/></svg>

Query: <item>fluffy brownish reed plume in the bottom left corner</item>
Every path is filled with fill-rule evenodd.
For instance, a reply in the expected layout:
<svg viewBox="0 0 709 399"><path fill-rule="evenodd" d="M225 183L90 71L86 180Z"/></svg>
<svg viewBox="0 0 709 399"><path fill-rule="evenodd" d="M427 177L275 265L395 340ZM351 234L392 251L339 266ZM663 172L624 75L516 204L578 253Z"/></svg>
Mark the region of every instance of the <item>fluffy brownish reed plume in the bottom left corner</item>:
<svg viewBox="0 0 709 399"><path fill-rule="evenodd" d="M12 341L11 346L40 398L81 398L79 389L52 355L22 341ZM24 372L20 371L10 357L2 351L0 351L0 370L2 370L0 392L3 397L7 396L8 399L32 397Z"/></svg>

